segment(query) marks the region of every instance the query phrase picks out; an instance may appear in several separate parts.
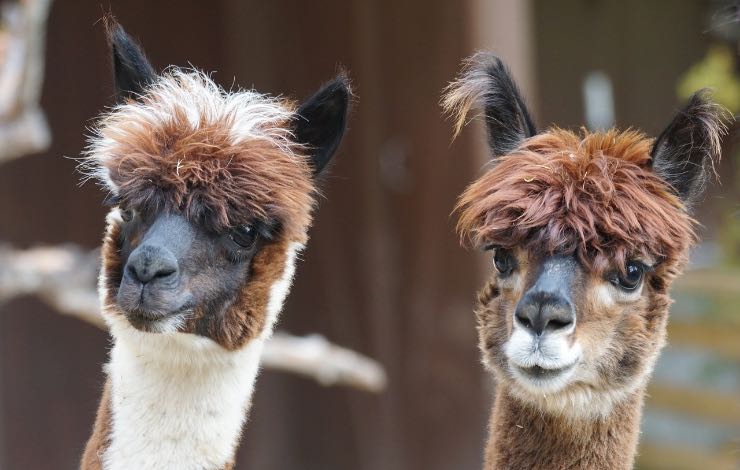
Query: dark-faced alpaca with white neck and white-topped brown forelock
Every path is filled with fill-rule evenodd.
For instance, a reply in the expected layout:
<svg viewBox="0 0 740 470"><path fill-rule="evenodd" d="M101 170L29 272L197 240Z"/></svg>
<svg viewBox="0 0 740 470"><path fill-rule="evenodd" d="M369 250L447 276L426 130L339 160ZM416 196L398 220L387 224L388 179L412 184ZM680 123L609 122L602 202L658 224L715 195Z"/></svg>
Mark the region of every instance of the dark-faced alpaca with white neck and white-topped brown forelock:
<svg viewBox="0 0 740 470"><path fill-rule="evenodd" d="M196 71L157 75L120 26L109 38L119 102L84 171L113 206L99 291L114 345L82 468L230 469L347 79L296 108Z"/></svg>

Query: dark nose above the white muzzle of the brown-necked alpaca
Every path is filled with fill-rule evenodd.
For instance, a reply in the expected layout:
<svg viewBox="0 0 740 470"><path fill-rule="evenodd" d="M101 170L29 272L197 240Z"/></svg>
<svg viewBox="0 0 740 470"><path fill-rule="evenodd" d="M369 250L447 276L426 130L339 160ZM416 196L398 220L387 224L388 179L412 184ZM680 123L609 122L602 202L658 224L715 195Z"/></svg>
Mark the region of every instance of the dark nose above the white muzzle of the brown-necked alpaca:
<svg viewBox="0 0 740 470"><path fill-rule="evenodd" d="M549 292L529 292L517 305L516 321L537 336L545 332L564 331L576 319L571 302Z"/></svg>

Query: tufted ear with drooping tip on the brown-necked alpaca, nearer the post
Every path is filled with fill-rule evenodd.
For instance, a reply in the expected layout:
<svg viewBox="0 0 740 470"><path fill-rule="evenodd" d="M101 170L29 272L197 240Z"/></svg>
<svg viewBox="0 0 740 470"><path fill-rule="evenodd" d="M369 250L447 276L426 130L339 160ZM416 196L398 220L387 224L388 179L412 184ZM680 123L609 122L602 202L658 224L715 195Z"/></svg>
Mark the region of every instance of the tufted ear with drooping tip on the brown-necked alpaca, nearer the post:
<svg viewBox="0 0 740 470"><path fill-rule="evenodd" d="M466 124L470 110L481 108L494 157L511 153L537 134L509 70L487 52L478 52L465 61L460 76L446 88L442 106L456 119L455 136Z"/></svg>

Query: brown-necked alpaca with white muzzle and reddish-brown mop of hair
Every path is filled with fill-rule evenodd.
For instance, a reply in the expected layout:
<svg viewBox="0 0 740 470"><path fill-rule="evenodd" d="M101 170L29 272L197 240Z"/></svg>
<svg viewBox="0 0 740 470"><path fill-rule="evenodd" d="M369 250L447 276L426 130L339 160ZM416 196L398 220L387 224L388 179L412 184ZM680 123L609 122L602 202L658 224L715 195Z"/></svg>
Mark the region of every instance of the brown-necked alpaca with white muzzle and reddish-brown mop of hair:
<svg viewBox="0 0 740 470"><path fill-rule="evenodd" d="M493 154L457 206L463 239L493 252L476 310L497 383L485 468L631 468L723 113L700 92L656 140L538 132L485 53L443 104L458 132L482 108Z"/></svg>

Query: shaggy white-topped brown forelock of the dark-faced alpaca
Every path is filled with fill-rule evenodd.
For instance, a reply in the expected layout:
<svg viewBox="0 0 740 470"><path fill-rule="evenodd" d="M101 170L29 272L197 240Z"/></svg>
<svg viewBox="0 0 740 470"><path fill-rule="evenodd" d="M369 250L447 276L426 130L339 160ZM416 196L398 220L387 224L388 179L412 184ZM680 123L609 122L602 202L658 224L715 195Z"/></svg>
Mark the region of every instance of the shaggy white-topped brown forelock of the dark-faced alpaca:
<svg viewBox="0 0 740 470"><path fill-rule="evenodd" d="M172 69L100 120L82 170L128 208L182 211L214 231L277 220L303 239L316 188L294 118L292 103Z"/></svg>

